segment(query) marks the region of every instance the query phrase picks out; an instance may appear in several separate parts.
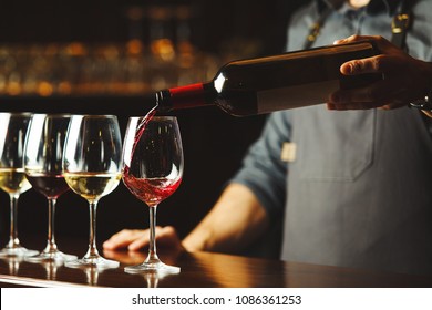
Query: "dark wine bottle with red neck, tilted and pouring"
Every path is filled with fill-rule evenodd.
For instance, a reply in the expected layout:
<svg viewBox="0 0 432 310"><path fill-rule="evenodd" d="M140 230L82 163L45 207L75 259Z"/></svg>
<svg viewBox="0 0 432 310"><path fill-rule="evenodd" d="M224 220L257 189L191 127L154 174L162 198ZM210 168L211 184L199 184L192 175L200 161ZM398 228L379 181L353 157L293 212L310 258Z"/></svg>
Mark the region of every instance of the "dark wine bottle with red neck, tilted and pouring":
<svg viewBox="0 0 432 310"><path fill-rule="evenodd" d="M379 53L372 41L362 41L233 61L209 82L157 92L157 110L217 105L232 115L246 116L325 103L336 90L381 80L381 74L339 71L347 61Z"/></svg>

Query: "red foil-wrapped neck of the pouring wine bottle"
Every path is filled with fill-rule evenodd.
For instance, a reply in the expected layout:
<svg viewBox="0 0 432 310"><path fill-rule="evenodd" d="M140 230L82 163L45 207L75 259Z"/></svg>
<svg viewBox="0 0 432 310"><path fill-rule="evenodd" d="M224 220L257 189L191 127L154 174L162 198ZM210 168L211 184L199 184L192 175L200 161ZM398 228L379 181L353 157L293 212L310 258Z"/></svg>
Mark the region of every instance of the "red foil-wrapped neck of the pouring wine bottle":
<svg viewBox="0 0 432 310"><path fill-rule="evenodd" d="M213 83L196 83L156 93L157 108L163 112L214 104Z"/></svg>

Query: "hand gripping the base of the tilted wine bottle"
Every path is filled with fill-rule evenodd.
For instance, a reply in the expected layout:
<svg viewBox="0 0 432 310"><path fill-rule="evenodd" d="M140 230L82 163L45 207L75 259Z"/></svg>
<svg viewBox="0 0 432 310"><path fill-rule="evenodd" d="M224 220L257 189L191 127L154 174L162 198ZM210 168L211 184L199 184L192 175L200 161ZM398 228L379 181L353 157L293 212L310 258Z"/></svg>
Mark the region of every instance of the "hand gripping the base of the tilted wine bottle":
<svg viewBox="0 0 432 310"><path fill-rule="evenodd" d="M339 90L329 97L330 110L385 110L408 105L424 97L432 86L432 64L410 56L379 35L352 35L336 44L376 41L382 54L352 60L341 65L344 75L381 73L383 80L356 90Z"/></svg>

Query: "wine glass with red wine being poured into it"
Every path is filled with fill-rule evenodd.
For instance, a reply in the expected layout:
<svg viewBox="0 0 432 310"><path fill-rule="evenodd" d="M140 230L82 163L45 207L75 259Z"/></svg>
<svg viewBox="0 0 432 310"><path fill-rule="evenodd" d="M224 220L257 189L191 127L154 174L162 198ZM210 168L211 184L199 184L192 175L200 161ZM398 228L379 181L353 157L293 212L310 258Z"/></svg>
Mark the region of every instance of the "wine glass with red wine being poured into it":
<svg viewBox="0 0 432 310"><path fill-rule="evenodd" d="M150 246L146 260L126 267L126 272L179 272L163 264L156 254L155 226L157 205L171 196L183 177L182 138L174 116L131 117L123 149L123 182L150 209Z"/></svg>

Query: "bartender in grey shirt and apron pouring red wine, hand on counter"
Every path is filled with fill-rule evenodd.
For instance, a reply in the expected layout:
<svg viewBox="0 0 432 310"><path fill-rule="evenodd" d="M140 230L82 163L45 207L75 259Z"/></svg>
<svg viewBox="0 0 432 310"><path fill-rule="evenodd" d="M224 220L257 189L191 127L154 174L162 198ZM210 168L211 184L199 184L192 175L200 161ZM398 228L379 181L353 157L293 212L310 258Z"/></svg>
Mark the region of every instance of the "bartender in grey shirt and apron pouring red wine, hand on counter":
<svg viewBox="0 0 432 310"><path fill-rule="evenodd" d="M160 227L158 245L233 252L282 218L284 260L431 275L432 140L409 107L430 110L431 33L430 0L309 1L287 50L372 39L382 54L341 72L383 80L271 114L209 214L182 241ZM146 230L123 230L104 248L146 245Z"/></svg>

